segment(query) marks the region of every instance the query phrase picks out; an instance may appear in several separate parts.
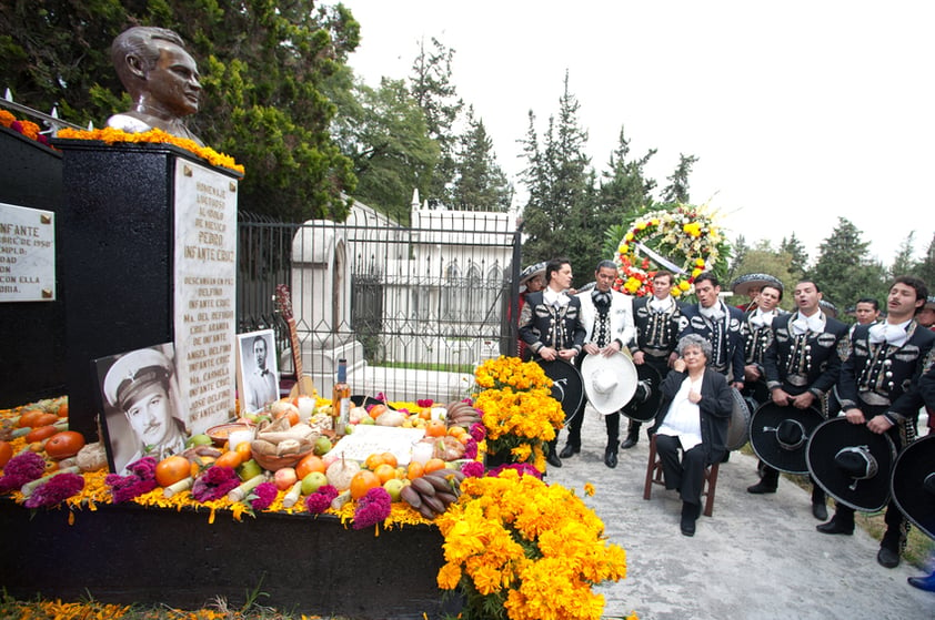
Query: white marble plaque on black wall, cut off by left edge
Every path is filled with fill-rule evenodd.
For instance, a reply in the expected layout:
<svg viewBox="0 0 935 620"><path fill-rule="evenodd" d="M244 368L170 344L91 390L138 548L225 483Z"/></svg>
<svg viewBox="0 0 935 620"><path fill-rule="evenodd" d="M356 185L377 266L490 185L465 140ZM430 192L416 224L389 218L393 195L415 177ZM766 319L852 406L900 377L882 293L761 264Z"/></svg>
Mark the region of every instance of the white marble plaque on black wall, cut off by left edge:
<svg viewBox="0 0 935 620"><path fill-rule="evenodd" d="M0 203L0 303L56 301L56 214Z"/></svg>

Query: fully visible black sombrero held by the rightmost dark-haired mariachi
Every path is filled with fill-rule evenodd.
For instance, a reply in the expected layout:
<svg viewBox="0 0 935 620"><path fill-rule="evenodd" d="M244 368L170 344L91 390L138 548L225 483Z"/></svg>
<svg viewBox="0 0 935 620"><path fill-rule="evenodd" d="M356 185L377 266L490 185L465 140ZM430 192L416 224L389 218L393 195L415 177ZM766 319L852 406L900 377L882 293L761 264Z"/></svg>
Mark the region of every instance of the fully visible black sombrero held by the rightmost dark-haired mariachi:
<svg viewBox="0 0 935 620"><path fill-rule="evenodd" d="M893 439L866 424L832 418L812 434L808 472L834 499L855 510L875 512L889 501L889 474L896 459Z"/></svg>

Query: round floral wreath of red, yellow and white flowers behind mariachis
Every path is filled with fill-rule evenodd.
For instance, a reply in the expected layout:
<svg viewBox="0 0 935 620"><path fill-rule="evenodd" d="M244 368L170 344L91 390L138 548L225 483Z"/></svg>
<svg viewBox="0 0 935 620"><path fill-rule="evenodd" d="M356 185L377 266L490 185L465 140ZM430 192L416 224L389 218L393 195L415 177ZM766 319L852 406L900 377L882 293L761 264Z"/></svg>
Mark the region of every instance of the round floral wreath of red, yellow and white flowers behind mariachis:
<svg viewBox="0 0 935 620"><path fill-rule="evenodd" d="M643 252L642 244L682 270L672 270L672 295L691 293L698 274L724 261L724 237L714 224L715 215L707 205L680 203L639 216L617 244L614 263L619 277L614 288L640 297L653 293L652 278L661 265L650 268L657 261Z"/></svg>

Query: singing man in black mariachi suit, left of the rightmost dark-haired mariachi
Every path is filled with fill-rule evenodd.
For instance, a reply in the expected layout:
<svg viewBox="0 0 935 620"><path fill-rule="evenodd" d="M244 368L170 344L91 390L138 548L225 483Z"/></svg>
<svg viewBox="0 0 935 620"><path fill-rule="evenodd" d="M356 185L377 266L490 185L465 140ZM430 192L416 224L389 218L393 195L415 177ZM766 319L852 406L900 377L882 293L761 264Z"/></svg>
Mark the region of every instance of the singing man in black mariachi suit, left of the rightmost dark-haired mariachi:
<svg viewBox="0 0 935 620"><path fill-rule="evenodd" d="M787 407L790 417L796 418L796 410L814 405L818 411L824 410L822 402L837 383L846 353L847 325L820 309L822 292L814 282L800 282L793 295L796 311L773 319L774 339L763 366L772 402ZM778 470L764 466L760 482L746 490L776 492L778 481ZM827 518L825 492L814 484L812 515L816 519Z"/></svg>

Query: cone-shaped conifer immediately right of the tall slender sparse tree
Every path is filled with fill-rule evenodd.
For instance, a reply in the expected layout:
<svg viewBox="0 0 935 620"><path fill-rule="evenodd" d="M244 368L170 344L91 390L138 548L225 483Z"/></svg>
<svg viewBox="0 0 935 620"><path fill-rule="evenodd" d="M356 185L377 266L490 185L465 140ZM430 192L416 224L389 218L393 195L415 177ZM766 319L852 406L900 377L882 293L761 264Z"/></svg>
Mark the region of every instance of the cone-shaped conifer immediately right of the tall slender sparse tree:
<svg viewBox="0 0 935 620"><path fill-rule="evenodd" d="M455 179L450 206L461 211L501 211L510 209L513 187L496 163L493 141L484 122L468 108L468 131L461 135L455 160Z"/></svg>

